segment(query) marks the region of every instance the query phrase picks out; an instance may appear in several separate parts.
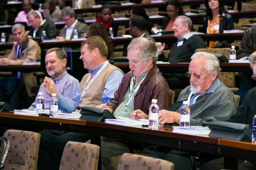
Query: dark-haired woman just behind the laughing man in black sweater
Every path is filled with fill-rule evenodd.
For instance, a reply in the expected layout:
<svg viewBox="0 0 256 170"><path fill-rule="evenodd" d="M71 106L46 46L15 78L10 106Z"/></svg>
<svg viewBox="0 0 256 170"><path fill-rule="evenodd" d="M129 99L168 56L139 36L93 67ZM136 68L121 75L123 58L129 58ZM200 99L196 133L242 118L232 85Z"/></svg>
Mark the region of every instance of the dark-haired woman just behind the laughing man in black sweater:
<svg viewBox="0 0 256 170"><path fill-rule="evenodd" d="M167 17L163 19L162 29L172 30L176 17L183 15L183 9L177 0L168 0L166 2Z"/></svg>

